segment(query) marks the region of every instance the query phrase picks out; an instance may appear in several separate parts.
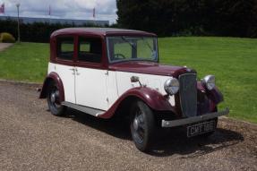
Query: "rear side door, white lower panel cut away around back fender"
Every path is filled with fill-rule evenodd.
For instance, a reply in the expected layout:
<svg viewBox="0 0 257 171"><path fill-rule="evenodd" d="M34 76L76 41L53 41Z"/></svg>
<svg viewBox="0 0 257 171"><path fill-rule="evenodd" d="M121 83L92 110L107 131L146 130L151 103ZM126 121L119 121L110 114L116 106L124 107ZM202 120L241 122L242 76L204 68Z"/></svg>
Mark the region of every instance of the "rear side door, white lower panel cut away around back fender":
<svg viewBox="0 0 257 171"><path fill-rule="evenodd" d="M73 36L56 38L55 72L59 75L64 85L64 100L75 103L75 74L74 74L74 42Z"/></svg>

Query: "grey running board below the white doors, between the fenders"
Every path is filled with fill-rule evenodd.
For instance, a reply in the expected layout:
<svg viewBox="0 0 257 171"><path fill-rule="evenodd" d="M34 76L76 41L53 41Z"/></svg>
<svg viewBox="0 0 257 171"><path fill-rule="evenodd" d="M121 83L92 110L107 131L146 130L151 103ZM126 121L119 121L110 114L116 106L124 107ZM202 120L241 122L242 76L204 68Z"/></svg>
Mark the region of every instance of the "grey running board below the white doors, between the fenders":
<svg viewBox="0 0 257 171"><path fill-rule="evenodd" d="M100 115L103 115L106 112L104 110L99 110L99 109L95 109L95 108L91 108L91 107L83 107L80 105L75 105L75 104L67 102L67 101L62 102L62 105L65 107L71 107L73 109L79 110L86 114L94 115L96 117L99 117Z"/></svg>

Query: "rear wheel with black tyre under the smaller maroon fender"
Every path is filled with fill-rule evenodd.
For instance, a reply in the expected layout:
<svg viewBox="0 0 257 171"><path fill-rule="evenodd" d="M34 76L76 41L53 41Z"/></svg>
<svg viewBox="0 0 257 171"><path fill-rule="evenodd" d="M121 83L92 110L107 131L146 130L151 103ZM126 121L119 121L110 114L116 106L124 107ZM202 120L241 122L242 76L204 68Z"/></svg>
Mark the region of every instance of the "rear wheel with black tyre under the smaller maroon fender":
<svg viewBox="0 0 257 171"><path fill-rule="evenodd" d="M55 81L51 81L47 89L47 105L52 115L64 115L66 107L61 105L60 91Z"/></svg>

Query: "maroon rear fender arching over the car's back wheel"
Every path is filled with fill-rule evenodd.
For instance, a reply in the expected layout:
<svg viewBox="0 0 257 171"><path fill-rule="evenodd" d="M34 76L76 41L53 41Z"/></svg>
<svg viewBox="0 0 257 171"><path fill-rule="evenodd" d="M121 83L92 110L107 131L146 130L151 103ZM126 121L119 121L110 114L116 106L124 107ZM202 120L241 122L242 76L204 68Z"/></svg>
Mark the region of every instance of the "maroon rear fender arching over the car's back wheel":
<svg viewBox="0 0 257 171"><path fill-rule="evenodd" d="M42 86L42 90L40 92L39 98L47 98L47 88L48 85L51 81L55 81L56 85L58 87L59 93L60 93L60 101L64 101L64 85L63 85L63 81L61 80L61 78L59 77L59 75L57 73L49 73L47 75L47 78L45 79L43 86Z"/></svg>

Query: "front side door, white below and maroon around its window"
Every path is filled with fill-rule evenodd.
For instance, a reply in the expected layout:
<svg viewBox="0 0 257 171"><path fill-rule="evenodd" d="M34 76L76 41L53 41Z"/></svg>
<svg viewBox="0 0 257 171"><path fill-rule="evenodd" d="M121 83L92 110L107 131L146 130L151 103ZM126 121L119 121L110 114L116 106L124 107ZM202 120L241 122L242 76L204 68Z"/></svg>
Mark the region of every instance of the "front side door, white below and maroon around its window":
<svg viewBox="0 0 257 171"><path fill-rule="evenodd" d="M77 41L76 104L107 110L107 69L102 67L102 39L79 37Z"/></svg>

